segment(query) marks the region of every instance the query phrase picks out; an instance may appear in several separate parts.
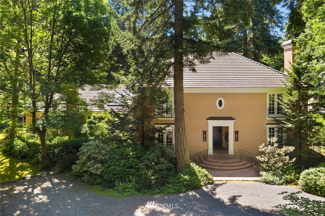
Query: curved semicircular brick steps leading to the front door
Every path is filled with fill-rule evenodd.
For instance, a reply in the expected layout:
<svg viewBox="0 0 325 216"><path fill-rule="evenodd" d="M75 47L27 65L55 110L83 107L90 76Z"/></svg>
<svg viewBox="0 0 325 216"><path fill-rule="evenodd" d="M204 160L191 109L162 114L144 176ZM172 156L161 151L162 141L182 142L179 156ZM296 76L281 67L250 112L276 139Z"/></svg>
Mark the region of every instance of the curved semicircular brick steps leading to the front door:
<svg viewBox="0 0 325 216"><path fill-rule="evenodd" d="M242 170L251 167L253 164L240 159L213 160L207 159L198 164L202 168L212 170Z"/></svg>

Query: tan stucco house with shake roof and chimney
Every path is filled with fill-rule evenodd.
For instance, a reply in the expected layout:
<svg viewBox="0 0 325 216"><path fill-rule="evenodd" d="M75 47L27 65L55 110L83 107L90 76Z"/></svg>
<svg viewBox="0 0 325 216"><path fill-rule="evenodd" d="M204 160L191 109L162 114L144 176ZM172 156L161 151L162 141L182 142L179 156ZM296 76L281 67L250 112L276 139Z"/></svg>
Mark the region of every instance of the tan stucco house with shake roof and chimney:
<svg viewBox="0 0 325 216"><path fill-rule="evenodd" d="M295 47L292 40L282 46L285 67L289 69ZM239 154L241 149L255 155L258 146L267 144L269 137L279 137L281 142L283 134L273 118L285 117L280 103L286 74L235 53L215 55L207 64L195 64L196 73L184 69L185 129L190 157L207 149L208 154L218 149ZM173 98L173 83L169 82ZM118 91L123 93L125 89ZM99 92L85 86L79 95L89 101ZM173 107L174 100L162 106ZM95 106L89 108L100 112ZM90 117L86 116L85 121ZM165 133L156 136L162 143L174 145L173 109L153 124L169 125Z"/></svg>

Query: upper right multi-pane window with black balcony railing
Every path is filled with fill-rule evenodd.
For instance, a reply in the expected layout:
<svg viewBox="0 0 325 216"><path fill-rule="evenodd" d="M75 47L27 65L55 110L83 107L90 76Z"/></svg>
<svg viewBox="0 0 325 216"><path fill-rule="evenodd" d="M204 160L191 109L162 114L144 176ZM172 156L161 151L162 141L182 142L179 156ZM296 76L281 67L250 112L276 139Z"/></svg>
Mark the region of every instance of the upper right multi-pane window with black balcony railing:
<svg viewBox="0 0 325 216"><path fill-rule="evenodd" d="M281 104L283 103L282 94L268 94L267 117L285 117Z"/></svg>

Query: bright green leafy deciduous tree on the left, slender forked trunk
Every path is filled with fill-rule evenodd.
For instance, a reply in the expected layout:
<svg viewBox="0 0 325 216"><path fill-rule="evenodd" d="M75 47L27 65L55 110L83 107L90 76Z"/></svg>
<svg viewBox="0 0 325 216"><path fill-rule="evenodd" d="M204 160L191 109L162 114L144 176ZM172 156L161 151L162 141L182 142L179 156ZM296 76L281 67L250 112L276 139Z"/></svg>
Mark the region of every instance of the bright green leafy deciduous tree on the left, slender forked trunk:
<svg viewBox="0 0 325 216"><path fill-rule="evenodd" d="M77 119L85 105L76 89L107 77L114 41L110 7L102 1L5 1L1 14L2 73L11 83L3 92L10 97L15 83L23 83L25 103L19 105L32 116L45 157L53 120Z"/></svg>

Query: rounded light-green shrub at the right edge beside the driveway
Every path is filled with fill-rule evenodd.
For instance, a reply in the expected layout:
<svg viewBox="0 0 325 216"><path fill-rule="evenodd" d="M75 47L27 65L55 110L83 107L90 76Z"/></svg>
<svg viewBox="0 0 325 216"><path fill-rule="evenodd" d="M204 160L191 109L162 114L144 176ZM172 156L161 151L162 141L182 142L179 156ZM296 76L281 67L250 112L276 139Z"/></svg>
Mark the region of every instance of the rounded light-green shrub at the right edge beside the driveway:
<svg viewBox="0 0 325 216"><path fill-rule="evenodd" d="M325 167L303 171L300 174L299 185L307 193L325 197Z"/></svg>

